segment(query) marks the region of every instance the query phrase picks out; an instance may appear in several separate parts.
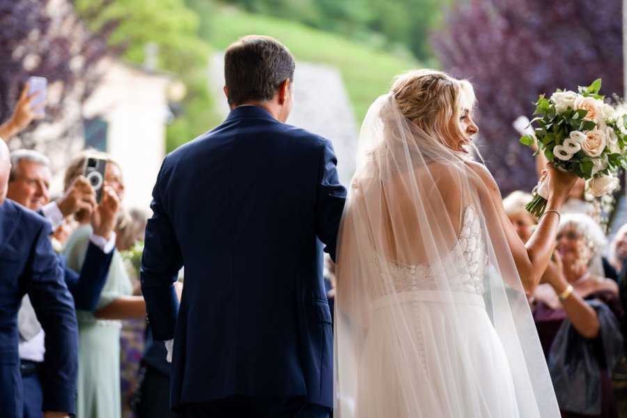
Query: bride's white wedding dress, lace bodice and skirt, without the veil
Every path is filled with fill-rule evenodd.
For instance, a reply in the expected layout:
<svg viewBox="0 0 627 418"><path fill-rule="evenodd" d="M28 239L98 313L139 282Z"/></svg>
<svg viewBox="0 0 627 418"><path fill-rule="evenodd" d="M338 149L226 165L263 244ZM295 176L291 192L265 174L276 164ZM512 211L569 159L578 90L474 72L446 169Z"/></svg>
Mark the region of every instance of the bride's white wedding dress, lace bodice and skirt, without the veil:
<svg viewBox="0 0 627 418"><path fill-rule="evenodd" d="M372 268L392 273L394 296L385 288L387 279L371 288L373 315L359 362L355 417L519 417L509 362L483 301L487 257L480 225L477 210L467 207L458 245L442 260L444 270L456 271L463 263L470 273L449 278L461 334L442 304L449 294L438 291L430 268L399 266L373 254ZM411 327L393 332L399 307L411 318ZM412 346L414 355L403 353ZM444 347L453 350L443 363ZM455 347L469 348L472 355ZM404 387L419 390L408 392ZM451 401L454 394L458 396ZM407 405L413 408L406 410ZM469 405L477 405L477 410L468 410Z"/></svg>

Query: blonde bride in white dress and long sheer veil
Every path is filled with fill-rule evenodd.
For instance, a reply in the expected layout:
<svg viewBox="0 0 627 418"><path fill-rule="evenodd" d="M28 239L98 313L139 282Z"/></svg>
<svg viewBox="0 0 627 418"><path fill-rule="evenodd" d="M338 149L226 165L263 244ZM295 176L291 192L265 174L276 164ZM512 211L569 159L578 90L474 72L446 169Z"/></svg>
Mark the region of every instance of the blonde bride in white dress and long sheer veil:
<svg viewBox="0 0 627 418"><path fill-rule="evenodd" d="M525 293L575 176L525 246L486 167L465 80L413 70L368 111L336 271L336 416L559 417Z"/></svg>

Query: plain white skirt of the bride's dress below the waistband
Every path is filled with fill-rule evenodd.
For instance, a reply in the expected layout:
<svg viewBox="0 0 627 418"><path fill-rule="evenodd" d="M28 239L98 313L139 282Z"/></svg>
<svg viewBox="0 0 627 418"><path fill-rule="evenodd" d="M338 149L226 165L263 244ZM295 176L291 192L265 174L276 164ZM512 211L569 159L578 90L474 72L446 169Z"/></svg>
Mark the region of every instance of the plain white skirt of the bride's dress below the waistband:
<svg viewBox="0 0 627 418"><path fill-rule="evenodd" d="M444 303L438 293L404 292L373 302L355 417L520 416L508 359L483 298L453 293L454 301Z"/></svg>

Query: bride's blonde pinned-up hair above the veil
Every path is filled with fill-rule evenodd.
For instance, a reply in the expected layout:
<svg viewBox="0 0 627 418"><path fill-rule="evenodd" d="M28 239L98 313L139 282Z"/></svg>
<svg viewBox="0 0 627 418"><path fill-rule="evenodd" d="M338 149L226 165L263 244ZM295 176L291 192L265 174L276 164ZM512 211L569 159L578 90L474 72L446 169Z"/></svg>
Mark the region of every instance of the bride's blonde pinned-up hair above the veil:
<svg viewBox="0 0 627 418"><path fill-rule="evenodd" d="M474 107L474 91L467 80L438 70L411 70L396 76L392 89L398 110L442 146L465 136L459 118Z"/></svg>

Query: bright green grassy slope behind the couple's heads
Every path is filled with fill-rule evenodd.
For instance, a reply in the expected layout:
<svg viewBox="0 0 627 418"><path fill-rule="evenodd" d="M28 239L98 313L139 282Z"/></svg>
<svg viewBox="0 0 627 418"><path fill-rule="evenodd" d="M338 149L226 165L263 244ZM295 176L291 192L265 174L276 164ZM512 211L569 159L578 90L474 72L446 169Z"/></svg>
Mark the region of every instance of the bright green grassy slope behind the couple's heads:
<svg viewBox="0 0 627 418"><path fill-rule="evenodd" d="M359 123L370 104L388 91L394 75L419 65L417 61L394 56L377 47L231 7L216 7L212 13L202 14L201 19L208 20L203 22L208 29L206 40L216 49L225 49L241 36L254 33L281 40L297 60L334 65L343 76Z"/></svg>

